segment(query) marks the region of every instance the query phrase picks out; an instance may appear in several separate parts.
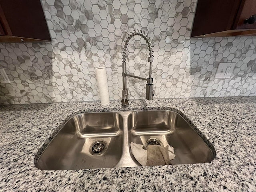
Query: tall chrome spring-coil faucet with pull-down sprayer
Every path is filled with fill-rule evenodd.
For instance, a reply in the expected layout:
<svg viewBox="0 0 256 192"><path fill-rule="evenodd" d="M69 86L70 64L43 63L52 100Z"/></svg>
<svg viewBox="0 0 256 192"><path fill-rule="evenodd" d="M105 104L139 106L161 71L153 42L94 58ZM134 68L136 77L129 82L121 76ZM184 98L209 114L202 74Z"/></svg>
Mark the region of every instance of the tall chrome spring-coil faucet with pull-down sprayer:
<svg viewBox="0 0 256 192"><path fill-rule="evenodd" d="M148 50L149 50L149 58L148 58L148 62L149 62L149 77L148 78L142 78L142 77L138 77L138 76L134 76L134 75L130 75L126 73L126 51L127 51L127 46L128 46L128 42L130 41L130 39L136 35L141 36L142 38L144 38L144 40L146 40L146 43L148 45ZM137 79L142 79L145 80L147 82L146 84L146 99L147 100L152 100L153 96L154 96L154 91L153 91L153 78L151 77L151 73L152 73L152 62L153 62L153 53L154 51L152 50L153 46L152 46L152 40L150 40L150 37L148 37L148 34L145 34L145 32L142 32L142 30L134 30L133 32L131 32L128 37L126 37L126 40L124 41L124 48L122 51L123 54L123 72L122 72L122 76L123 76L123 90L122 90L122 105L123 106L128 106L128 90L126 87L126 76L129 77L133 77L133 78L137 78Z"/></svg>

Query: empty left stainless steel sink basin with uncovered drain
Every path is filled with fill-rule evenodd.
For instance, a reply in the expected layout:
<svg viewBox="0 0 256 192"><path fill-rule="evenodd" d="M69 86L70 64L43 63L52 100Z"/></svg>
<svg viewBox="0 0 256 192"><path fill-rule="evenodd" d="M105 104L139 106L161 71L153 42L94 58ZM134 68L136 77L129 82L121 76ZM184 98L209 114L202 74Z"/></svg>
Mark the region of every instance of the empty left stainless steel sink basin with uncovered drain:
<svg viewBox="0 0 256 192"><path fill-rule="evenodd" d="M72 117L36 163L42 170L112 168L122 156L123 120L116 112Z"/></svg>

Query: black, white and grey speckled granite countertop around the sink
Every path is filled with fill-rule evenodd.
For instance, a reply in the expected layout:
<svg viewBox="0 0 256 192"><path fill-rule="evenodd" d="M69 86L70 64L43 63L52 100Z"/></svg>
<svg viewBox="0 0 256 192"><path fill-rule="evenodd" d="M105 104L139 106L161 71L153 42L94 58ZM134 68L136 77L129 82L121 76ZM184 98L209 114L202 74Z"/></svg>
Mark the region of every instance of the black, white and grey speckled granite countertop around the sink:
<svg viewBox="0 0 256 192"><path fill-rule="evenodd" d="M75 112L172 109L213 144L211 163L38 170L34 157ZM256 97L131 100L0 106L0 191L256 191Z"/></svg>

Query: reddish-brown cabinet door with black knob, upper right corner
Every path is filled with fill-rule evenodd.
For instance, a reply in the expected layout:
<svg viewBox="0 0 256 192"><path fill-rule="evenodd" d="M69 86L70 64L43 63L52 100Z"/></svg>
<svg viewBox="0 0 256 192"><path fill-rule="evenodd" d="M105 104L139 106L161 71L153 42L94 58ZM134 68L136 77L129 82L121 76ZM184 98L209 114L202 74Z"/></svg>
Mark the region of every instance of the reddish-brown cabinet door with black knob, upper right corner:
<svg viewBox="0 0 256 192"><path fill-rule="evenodd" d="M245 24L244 20L253 18L256 19L256 0L242 0L233 29L256 29L256 22Z"/></svg>

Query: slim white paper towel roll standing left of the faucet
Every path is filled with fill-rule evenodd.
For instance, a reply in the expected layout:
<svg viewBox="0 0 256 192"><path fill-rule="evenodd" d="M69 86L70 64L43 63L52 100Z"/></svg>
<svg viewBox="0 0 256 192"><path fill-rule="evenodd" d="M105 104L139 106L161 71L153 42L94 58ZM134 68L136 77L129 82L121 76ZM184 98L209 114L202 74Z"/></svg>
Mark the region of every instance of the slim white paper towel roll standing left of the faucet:
<svg viewBox="0 0 256 192"><path fill-rule="evenodd" d="M108 92L108 78L106 68L96 68L96 80L98 82L100 92L100 103L106 106L110 103L109 92Z"/></svg>

